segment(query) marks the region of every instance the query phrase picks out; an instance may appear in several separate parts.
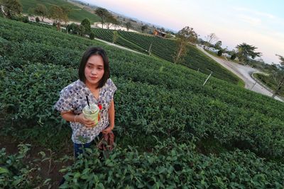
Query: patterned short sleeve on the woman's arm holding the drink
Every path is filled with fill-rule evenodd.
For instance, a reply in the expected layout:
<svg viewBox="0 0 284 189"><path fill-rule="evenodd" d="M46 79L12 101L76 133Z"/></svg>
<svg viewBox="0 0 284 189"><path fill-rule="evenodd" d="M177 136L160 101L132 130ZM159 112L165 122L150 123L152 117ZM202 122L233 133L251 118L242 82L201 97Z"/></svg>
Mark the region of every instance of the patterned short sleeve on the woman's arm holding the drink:
<svg viewBox="0 0 284 189"><path fill-rule="evenodd" d="M63 88L60 91L60 98L54 105L55 110L62 112L70 112L75 109L72 91L69 88Z"/></svg>

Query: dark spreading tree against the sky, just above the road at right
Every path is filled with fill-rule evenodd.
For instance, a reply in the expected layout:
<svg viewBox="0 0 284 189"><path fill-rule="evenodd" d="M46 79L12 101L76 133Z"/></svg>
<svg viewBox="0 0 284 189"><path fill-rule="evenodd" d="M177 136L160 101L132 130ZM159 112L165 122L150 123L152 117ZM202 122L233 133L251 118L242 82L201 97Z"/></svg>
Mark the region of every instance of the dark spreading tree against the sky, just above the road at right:
<svg viewBox="0 0 284 189"><path fill-rule="evenodd" d="M249 58L255 59L256 57L261 57L261 52L254 52L256 49L257 47L243 42L242 44L236 46L236 56L238 57L239 61L248 64Z"/></svg>

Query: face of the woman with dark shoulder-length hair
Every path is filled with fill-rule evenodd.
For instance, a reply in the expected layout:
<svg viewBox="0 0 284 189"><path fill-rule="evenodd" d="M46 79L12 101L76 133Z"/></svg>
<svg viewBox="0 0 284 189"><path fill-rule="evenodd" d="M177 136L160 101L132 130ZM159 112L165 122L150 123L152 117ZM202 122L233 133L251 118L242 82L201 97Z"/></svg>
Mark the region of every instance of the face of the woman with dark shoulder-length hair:
<svg viewBox="0 0 284 189"><path fill-rule="evenodd" d="M97 87L99 81L104 76L104 61L100 55L92 55L87 60L84 67L84 76L86 77L86 84Z"/></svg>

